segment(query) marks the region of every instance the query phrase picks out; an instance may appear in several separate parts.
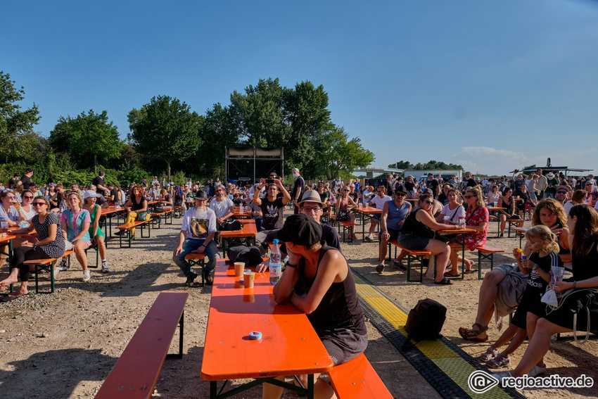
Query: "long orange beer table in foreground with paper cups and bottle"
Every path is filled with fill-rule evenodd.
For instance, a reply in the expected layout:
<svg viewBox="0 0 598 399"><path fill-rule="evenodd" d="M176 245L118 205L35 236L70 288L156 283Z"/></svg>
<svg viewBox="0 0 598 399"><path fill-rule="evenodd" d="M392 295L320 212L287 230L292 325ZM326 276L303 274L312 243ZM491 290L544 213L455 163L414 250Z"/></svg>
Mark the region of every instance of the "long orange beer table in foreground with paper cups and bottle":
<svg viewBox="0 0 598 399"><path fill-rule="evenodd" d="M217 260L201 378L210 381L210 398L228 398L272 382L276 376L308 374L306 388L274 384L314 397L314 374L329 372L333 362L305 313L291 304L276 305L268 273L255 273L253 289L234 277L233 265ZM253 331L262 338L250 340ZM229 379L254 381L222 392ZM225 381L217 391L217 381Z"/></svg>

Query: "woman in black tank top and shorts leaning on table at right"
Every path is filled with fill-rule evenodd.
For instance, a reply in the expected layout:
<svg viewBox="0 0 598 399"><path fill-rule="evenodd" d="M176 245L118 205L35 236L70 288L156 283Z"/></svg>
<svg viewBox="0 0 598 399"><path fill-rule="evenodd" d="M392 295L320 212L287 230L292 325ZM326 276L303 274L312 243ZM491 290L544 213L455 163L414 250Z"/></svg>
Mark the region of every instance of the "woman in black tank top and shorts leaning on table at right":
<svg viewBox="0 0 598 399"><path fill-rule="evenodd" d="M422 194L419 197L419 206L405 218L397 241L402 248L412 251L428 251L435 255L436 276L434 284L450 285L452 281L444 277L450 255L450 246L444 241L434 239L434 231L458 229L459 226L436 222L431 214L433 205L433 196L431 194Z"/></svg>

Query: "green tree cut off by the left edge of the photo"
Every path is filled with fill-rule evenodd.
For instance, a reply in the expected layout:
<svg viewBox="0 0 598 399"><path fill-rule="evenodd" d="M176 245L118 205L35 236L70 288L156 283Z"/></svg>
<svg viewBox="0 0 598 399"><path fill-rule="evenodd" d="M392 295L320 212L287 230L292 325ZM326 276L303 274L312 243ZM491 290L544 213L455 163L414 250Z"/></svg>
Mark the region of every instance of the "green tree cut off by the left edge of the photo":
<svg viewBox="0 0 598 399"><path fill-rule="evenodd" d="M0 71L0 156L4 163L22 160L24 153L34 152L39 141L39 135L33 132L41 118L37 105L22 110L23 99L24 87L17 89L11 75Z"/></svg>

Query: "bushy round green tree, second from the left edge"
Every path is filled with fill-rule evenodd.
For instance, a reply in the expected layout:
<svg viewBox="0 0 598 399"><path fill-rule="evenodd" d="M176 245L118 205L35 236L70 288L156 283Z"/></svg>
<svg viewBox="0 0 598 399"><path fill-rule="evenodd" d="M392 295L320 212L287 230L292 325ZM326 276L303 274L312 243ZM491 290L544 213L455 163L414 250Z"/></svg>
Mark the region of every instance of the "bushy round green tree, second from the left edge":
<svg viewBox="0 0 598 399"><path fill-rule="evenodd" d="M118 134L117 127L108 120L108 112L94 113L89 110L77 115L58 118L58 123L50 132L52 148L61 153L70 154L79 167L89 167L89 160L94 160L94 172L98 172L98 160L106 161L120 156L125 146Z"/></svg>

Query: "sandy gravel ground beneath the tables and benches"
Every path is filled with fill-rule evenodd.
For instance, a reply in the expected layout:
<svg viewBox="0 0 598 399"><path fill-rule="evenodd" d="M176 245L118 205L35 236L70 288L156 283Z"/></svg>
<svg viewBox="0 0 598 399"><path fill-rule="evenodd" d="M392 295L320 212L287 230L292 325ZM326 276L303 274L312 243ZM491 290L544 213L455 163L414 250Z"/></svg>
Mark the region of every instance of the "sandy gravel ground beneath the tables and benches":
<svg viewBox="0 0 598 399"><path fill-rule="evenodd" d="M526 227L530 222L526 222ZM71 270L60 272L57 292L34 295L0 303L0 398L92 398L114 366L160 291L184 290L184 277L172 262L172 250L180 220L174 225L153 230L151 239L134 241L133 248L118 249L116 241L108 247L109 274L92 272L91 281L80 281L82 272L73 258ZM496 224L490 225L496 235ZM361 235L360 235L361 236ZM490 246L506 251L495 257L495 265L513 262L516 238L492 238ZM464 341L457 332L470 327L476 313L481 281L469 274L453 286L437 286L431 281L407 283L406 274L387 265L383 274L377 264L376 243L343 244L343 253L351 267L372 281L379 289L410 309L421 298L433 298L447 306L443 335L466 353L476 357L500 332L488 331L488 343ZM473 254L470 257L473 258ZM484 271L489 269L485 265ZM4 279L7 270L2 270ZM44 283L44 288L49 283ZM209 384L200 377L205 324L208 319L210 287L192 289L185 310L184 357L165 362L155 397L208 398ZM395 398L439 398L400 353L368 323L369 346L366 355ZM526 343L516 350L512 360L519 362ZM171 352L177 346L175 336ZM584 345L553 341L546 362L550 374L597 379L598 341ZM514 367L514 366L512 366ZM236 384L238 381L236 382ZM253 388L239 398L260 398L261 389ZM530 389L527 398L597 397L598 386L577 389ZM294 393L285 398L297 397Z"/></svg>

